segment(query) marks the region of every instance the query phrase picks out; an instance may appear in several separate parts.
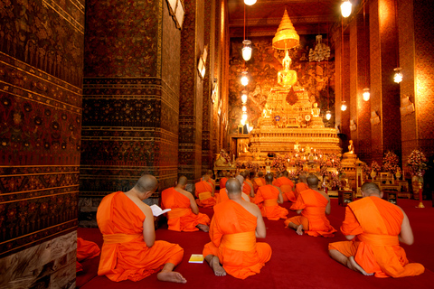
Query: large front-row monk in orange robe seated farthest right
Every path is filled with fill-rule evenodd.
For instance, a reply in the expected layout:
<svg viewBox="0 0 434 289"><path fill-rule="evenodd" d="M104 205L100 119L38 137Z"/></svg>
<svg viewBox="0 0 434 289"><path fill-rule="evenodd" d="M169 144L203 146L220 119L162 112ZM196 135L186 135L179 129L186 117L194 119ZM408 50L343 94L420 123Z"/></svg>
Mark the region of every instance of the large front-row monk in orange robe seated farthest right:
<svg viewBox="0 0 434 289"><path fill-rule="evenodd" d="M363 183L362 196L345 209L341 231L350 241L330 243L330 256L363 275L397 278L422 274L425 268L409 263L400 246L400 241L407 245L414 241L405 212L382 200L382 192L373 182Z"/></svg>

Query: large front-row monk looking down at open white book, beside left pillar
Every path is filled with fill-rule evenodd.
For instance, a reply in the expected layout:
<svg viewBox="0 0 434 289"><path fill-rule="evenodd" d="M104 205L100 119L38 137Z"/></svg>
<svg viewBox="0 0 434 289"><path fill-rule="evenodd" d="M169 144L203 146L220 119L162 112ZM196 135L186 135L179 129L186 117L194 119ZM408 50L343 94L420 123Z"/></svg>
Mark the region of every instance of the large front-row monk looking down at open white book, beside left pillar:
<svg viewBox="0 0 434 289"><path fill-rule="evenodd" d="M98 227L103 235L98 275L112 281L138 281L161 270L158 280L186 283L174 272L184 249L177 244L156 241L154 216L143 200L158 186L152 175L143 175L130 191L117 191L102 199L97 211Z"/></svg>

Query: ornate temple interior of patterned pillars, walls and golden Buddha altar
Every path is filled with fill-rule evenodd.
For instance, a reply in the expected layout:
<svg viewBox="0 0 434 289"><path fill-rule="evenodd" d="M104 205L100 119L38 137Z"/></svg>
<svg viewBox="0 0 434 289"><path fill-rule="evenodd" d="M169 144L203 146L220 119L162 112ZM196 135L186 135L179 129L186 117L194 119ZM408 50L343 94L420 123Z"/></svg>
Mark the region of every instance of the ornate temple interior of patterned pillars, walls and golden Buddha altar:
<svg viewBox="0 0 434 289"><path fill-rule="evenodd" d="M0 1L0 287L74 286L77 228L143 173L149 203L287 170L430 207L434 2L351 2Z"/></svg>

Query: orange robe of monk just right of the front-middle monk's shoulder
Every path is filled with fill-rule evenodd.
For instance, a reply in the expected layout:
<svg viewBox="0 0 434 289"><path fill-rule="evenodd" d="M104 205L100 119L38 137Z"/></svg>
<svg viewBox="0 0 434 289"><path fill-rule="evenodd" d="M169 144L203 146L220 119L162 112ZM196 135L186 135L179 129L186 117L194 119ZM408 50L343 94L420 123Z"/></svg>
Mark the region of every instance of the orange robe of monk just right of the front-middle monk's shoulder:
<svg viewBox="0 0 434 289"><path fill-rule="evenodd" d="M262 216L267 219L287 219L288 210L278 205L278 189L270 184L258 189L255 204L259 206Z"/></svg>

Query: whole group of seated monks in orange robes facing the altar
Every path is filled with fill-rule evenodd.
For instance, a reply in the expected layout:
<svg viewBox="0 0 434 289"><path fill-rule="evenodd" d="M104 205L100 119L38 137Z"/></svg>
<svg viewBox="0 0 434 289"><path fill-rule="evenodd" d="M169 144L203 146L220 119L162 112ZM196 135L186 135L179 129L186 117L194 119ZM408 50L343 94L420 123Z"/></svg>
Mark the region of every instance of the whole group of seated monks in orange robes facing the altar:
<svg viewBox="0 0 434 289"><path fill-rule="evenodd" d="M272 253L269 244L257 242L267 235L264 217L285 219L285 226L298 235L334 236L336 230L326 218L331 212L330 199L324 191L318 191L314 174L300 175L300 182L294 185L285 172L277 179L272 173L265 177L262 172L256 176L246 171L235 177L226 173L218 192L211 176L208 172L196 183L196 199L185 191L187 179L181 176L175 187L162 191L161 200L164 209L171 209L167 213L168 229L209 232L210 242L204 244L203 256L215 275L244 279L259 274ZM183 258L183 248L156 240L152 211L143 202L157 186L156 178L146 174L130 191L111 193L101 201L97 221L104 244L99 275L113 281L137 281L158 272L158 280L186 283L184 276L174 271ZM341 231L348 240L330 243L329 255L363 275L422 274L424 267L410 264L400 247L400 241L413 243L405 212L382 200L382 192L373 182L363 184L362 195L363 199L346 207ZM298 216L287 219L288 210L279 206L284 201L292 202L290 210L296 210ZM198 206L213 207L211 221ZM78 256L86 251L95 255L90 247L79 246Z"/></svg>

